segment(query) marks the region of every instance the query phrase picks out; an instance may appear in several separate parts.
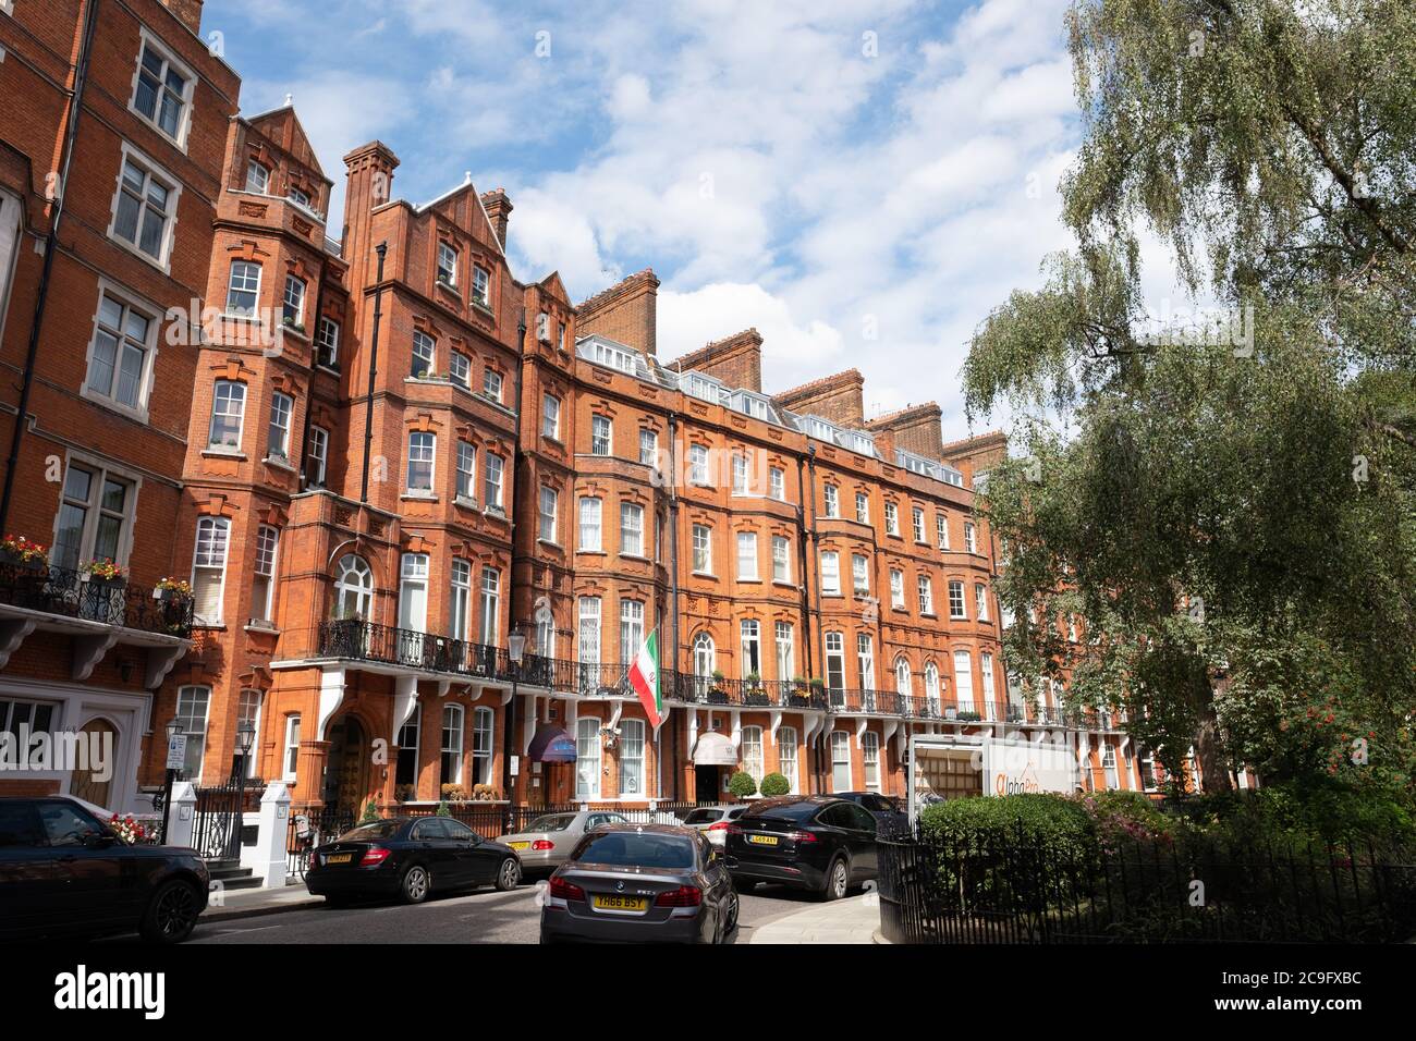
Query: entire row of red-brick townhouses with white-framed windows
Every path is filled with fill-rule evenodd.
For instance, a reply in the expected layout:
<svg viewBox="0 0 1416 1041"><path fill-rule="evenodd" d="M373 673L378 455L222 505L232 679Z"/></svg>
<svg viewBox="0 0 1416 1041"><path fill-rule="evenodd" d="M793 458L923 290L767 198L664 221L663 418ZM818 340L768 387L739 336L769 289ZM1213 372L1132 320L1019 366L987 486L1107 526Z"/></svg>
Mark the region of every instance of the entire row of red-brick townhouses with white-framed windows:
<svg viewBox="0 0 1416 1041"><path fill-rule="evenodd" d="M523 283L507 194L401 198L381 142L331 217L200 16L0 0L0 527L48 551L0 562L0 727L118 749L0 790L143 809L176 722L187 779L343 810L903 793L910 734L1063 722L1001 659L1000 435L867 419L855 370L763 388L752 329L661 360L651 271ZM1069 722L1082 786L1150 780Z"/></svg>

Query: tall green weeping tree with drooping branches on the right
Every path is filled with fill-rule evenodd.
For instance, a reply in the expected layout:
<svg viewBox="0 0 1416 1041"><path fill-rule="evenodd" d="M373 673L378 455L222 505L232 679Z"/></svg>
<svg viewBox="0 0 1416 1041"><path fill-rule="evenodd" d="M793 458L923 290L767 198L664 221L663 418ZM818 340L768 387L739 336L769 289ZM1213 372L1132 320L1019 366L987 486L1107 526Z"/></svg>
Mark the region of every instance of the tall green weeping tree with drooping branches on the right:
<svg viewBox="0 0 1416 1041"><path fill-rule="evenodd" d="M1017 423L980 504L1011 667L1072 670L1211 789L1409 787L1416 4L1075 0L1066 34L1076 246L963 374ZM1222 320L1157 322L1147 238Z"/></svg>

